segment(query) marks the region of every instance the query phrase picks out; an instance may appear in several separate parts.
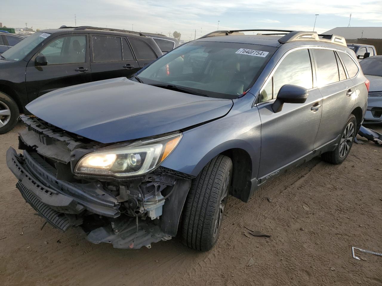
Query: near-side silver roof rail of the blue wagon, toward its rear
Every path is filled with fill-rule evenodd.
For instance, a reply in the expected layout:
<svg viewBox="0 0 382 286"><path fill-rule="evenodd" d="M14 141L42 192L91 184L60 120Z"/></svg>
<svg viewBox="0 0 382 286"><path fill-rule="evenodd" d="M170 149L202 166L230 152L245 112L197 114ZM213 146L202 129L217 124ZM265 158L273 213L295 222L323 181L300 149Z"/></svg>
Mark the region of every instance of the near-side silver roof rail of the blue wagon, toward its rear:
<svg viewBox="0 0 382 286"><path fill-rule="evenodd" d="M306 40L327 42L327 43L342 45L346 47L346 40L344 37L337 36L337 35L323 35L323 34L319 35L317 34L317 32L293 31L286 34L282 38L278 39L278 42L289 43L289 42L306 41Z"/></svg>

